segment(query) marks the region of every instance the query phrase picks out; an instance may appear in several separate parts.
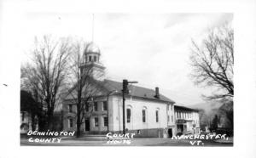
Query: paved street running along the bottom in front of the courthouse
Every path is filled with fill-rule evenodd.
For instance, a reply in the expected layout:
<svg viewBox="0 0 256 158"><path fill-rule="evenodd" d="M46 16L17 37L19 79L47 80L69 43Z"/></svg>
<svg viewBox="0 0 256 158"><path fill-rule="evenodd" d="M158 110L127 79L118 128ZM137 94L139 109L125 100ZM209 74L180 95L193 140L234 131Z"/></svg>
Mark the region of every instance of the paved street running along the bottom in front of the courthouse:
<svg viewBox="0 0 256 158"><path fill-rule="evenodd" d="M233 146L233 143L219 143L213 140L202 140L203 144L190 144L190 140L175 140L172 138L132 138L131 144L126 141L120 141L116 144L108 144L107 138L90 137L90 138L61 138L60 143L34 143L29 142L28 138L20 138L20 145L47 145L47 146ZM192 142L194 143L194 142Z"/></svg>

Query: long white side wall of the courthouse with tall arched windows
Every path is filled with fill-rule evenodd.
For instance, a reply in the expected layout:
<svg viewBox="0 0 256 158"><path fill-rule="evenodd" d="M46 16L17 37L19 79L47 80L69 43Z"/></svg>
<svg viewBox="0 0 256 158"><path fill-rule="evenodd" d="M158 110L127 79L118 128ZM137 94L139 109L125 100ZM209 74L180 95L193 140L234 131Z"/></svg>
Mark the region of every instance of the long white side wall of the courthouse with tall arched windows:
<svg viewBox="0 0 256 158"><path fill-rule="evenodd" d="M122 132L123 131L123 104L122 98L115 96L109 100L112 114L110 116L110 131ZM131 109L131 121L127 122L127 109ZM143 110L146 111L146 121L143 122ZM156 110L159 112L159 119L156 122ZM166 103L146 100L146 99L125 99L125 128L129 131L137 131L143 129L164 129L168 126L174 126L174 108L167 108ZM170 116L170 122L167 122L167 116ZM173 118L173 120L172 120ZM140 132L141 132L140 131ZM143 130L144 131L144 130ZM154 132L153 132L154 133ZM162 134L161 134L162 135Z"/></svg>

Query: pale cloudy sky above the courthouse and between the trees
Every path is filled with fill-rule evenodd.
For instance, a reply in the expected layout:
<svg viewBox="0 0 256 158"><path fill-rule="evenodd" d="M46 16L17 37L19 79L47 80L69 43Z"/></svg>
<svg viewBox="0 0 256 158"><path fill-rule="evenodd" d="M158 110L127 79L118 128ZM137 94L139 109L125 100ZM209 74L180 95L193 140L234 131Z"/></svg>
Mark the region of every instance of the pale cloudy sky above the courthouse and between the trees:
<svg viewBox="0 0 256 158"><path fill-rule="evenodd" d="M107 78L137 81L177 104L203 102L201 94L211 88L196 87L189 77L191 39L200 43L210 29L230 23L233 14L136 14L65 12L27 8L20 15L21 63L29 58L34 37L82 37L101 49ZM3 25L8 27L8 25Z"/></svg>

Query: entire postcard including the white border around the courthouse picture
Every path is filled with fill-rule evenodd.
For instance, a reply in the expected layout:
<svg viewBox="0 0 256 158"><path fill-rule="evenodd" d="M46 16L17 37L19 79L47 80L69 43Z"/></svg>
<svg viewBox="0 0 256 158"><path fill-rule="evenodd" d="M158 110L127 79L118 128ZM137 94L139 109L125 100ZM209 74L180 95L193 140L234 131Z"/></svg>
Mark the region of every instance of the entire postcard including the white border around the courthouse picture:
<svg viewBox="0 0 256 158"><path fill-rule="evenodd" d="M256 4L247 2L241 8ZM15 90L15 97L3 97L15 102L8 104L15 117L3 113L1 120L8 124L4 133L15 132L9 137L15 148L86 147L90 153L90 147L94 152L98 147L181 148L178 152L194 147L201 153L212 152L211 147L233 151L244 144L241 139L255 147L255 117L242 110L253 104L256 58L241 53L239 46L255 48L255 37L243 39L255 24L240 20L246 16L239 13L249 11L237 14L238 1L236 7L214 12L191 11L184 3L177 6L186 9L172 12L143 12L145 3L129 12L98 3L68 3L72 9L66 2L51 4L1 5L1 52L11 50L1 54L1 73L6 74L1 75L1 95ZM12 65L4 60L9 57L14 68L6 66Z"/></svg>

